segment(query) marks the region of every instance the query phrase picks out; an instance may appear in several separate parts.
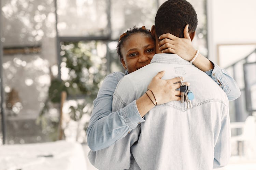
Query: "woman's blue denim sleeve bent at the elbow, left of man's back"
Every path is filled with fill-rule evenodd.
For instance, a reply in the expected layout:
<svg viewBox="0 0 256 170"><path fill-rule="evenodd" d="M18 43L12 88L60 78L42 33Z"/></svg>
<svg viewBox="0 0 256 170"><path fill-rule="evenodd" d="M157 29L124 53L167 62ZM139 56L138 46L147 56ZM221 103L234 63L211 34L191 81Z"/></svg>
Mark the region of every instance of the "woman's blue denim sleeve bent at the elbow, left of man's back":
<svg viewBox="0 0 256 170"><path fill-rule="evenodd" d="M124 74L115 72L108 75L94 100L93 113L87 129L87 143L92 151L111 146L125 137L144 119L140 116L136 101L112 112L112 100L116 86Z"/></svg>

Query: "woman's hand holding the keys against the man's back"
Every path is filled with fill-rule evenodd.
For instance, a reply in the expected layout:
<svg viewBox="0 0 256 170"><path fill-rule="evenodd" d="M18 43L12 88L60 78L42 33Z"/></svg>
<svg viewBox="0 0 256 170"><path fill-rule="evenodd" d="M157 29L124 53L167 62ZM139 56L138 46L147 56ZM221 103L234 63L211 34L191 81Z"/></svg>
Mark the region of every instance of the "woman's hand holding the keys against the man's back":
<svg viewBox="0 0 256 170"><path fill-rule="evenodd" d="M169 80L161 79L165 71L160 71L157 75L152 79L147 89L150 89L156 98L157 104L163 104L170 101L179 101L181 100L181 92L180 90L176 90L180 88L180 81L182 77L175 77ZM189 82L184 82L185 85L189 86ZM147 91L148 96L154 101L154 96L151 92Z"/></svg>

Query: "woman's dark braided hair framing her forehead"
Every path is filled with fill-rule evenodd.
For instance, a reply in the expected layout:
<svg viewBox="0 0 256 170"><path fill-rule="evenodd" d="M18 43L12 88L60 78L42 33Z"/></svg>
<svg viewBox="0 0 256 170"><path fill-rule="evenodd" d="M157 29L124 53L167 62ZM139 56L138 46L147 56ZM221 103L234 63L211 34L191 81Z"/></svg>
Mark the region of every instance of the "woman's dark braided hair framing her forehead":
<svg viewBox="0 0 256 170"><path fill-rule="evenodd" d="M151 31L149 29L146 29L145 26L142 26L142 27L133 26L132 28L129 28L128 30L126 30L124 34L120 35L120 38L118 40L118 44L116 47L117 55L120 62L122 62L122 58L123 58L123 55L121 53L121 47L123 43L134 33L144 33L145 35L154 39L154 37L151 34Z"/></svg>

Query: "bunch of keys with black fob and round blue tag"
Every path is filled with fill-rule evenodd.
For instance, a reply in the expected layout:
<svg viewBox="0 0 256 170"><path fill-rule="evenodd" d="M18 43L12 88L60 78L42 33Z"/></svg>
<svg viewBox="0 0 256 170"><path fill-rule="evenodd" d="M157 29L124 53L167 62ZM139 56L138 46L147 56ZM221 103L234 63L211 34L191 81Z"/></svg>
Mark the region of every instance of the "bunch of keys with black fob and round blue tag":
<svg viewBox="0 0 256 170"><path fill-rule="evenodd" d="M186 101L187 108L192 108L191 100L194 99L193 92L190 91L188 89L188 86L184 85L182 82L181 82L181 86L180 86L180 91L181 91L181 103L184 103Z"/></svg>

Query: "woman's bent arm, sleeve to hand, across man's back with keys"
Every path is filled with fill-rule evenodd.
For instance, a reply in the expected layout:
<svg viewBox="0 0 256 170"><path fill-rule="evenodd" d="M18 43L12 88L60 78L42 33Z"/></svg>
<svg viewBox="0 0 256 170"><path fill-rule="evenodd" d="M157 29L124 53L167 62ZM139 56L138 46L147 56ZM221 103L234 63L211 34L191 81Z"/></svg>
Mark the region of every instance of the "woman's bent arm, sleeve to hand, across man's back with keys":
<svg viewBox="0 0 256 170"><path fill-rule="evenodd" d="M158 104L173 100L180 100L181 92L177 83L179 77L162 80L164 71L159 72L148 85L157 99ZM94 100L94 109L87 129L87 143L92 151L97 151L111 146L117 140L125 137L131 130L137 127L142 118L155 105L152 103L153 96L144 94L138 100L126 105L116 112L112 112L112 100L115 88L123 73L115 72L108 75ZM188 82L185 82L189 85ZM151 99L150 99L151 98Z"/></svg>

